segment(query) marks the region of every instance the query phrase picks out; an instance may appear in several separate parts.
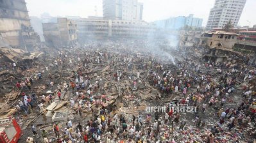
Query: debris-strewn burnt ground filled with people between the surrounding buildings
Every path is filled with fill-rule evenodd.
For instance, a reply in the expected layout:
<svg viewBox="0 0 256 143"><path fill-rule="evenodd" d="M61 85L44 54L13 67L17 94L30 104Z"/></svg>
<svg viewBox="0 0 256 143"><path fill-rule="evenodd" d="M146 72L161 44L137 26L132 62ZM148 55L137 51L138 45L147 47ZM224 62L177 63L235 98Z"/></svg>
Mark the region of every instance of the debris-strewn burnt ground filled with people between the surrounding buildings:
<svg viewBox="0 0 256 143"><path fill-rule="evenodd" d="M1 52L0 117L17 119L19 142L255 142L255 67L207 63L202 51L127 40L44 49L36 58ZM197 112L175 113L170 103Z"/></svg>

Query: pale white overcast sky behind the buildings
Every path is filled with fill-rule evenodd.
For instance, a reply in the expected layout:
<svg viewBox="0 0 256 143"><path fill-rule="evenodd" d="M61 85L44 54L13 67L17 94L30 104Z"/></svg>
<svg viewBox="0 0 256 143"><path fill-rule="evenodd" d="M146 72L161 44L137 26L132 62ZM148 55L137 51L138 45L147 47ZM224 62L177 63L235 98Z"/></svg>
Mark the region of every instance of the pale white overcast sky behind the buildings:
<svg viewBox="0 0 256 143"><path fill-rule="evenodd" d="M215 0L138 0L144 3L143 20L151 22L154 20L167 19L180 15L194 14L194 17L203 19L206 25L210 8L214 6ZM102 16L102 0L26 0L29 15L40 17L42 13L51 16ZM95 8L96 7L96 8ZM252 27L256 24L256 0L247 0L241 18L240 26ZM249 22L248 22L249 21Z"/></svg>

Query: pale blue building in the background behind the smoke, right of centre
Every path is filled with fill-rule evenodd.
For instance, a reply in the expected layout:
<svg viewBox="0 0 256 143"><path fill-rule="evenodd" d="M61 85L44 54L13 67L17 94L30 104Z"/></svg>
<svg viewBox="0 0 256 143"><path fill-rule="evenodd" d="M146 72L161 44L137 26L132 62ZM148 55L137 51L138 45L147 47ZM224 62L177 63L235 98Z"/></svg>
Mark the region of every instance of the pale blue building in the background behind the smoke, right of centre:
<svg viewBox="0 0 256 143"><path fill-rule="evenodd" d="M179 16L179 17L171 17L165 20L158 20L153 22L157 27L169 29L169 30L177 30L181 29L184 26L189 27L201 27L203 19L195 18L194 15L189 15L188 17Z"/></svg>

